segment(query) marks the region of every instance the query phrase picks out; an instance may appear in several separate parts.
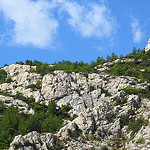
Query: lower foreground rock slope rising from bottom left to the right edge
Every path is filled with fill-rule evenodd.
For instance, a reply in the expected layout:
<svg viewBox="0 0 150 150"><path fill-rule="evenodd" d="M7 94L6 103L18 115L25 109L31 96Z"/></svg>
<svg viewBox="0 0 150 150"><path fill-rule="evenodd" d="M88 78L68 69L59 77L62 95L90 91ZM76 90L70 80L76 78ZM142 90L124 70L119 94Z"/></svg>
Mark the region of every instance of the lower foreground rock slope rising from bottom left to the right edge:
<svg viewBox="0 0 150 150"><path fill-rule="evenodd" d="M120 92L113 97L114 100L118 101L119 95L123 98L125 96L123 92ZM150 120L149 101L147 102L145 99L140 103L139 97L135 95L130 95L123 106L119 105L119 101L118 105L111 105L110 102L103 101L98 106L86 109L86 111L80 113L79 117L61 128L56 135L51 133L39 134L37 132L31 132L26 136L19 135L11 143L10 150L13 150L14 147L16 149L27 148L30 150L37 148L47 150L53 149L56 145L60 145L60 149L68 150L90 148L96 150L104 148L110 150L113 148L147 150L150 138L149 124L143 126L129 142L132 131L129 130L128 126L122 127L119 116L128 114L132 102L133 104L138 103L139 106L142 105L140 108L136 105L133 106L136 117L143 116ZM147 107L145 107L146 103L148 104Z"/></svg>

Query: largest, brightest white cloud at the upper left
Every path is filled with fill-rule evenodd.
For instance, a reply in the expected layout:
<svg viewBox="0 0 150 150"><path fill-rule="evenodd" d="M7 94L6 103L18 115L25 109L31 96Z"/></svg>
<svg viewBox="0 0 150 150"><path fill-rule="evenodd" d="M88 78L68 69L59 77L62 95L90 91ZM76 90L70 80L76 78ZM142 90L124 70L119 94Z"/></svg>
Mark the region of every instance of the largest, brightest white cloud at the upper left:
<svg viewBox="0 0 150 150"><path fill-rule="evenodd" d="M45 0L0 0L0 10L13 23L13 42L40 48L51 45L58 22L50 15L50 7Z"/></svg>

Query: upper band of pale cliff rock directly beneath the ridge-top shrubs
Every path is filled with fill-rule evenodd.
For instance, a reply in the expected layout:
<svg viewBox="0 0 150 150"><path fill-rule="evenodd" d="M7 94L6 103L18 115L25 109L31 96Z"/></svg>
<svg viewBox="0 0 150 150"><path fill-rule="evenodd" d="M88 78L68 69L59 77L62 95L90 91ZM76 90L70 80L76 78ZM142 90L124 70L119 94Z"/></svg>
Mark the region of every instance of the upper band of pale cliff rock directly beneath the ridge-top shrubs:
<svg viewBox="0 0 150 150"><path fill-rule="evenodd" d="M150 84L139 83L134 77L114 77L105 73L84 76L82 73L63 71L54 71L42 77L40 74L30 73L31 68L35 66L13 64L4 67L12 82L0 84L0 90L11 95L18 91L25 97L32 95L36 102L44 102L47 105L51 100L55 100L59 106L69 102L73 107L72 114L96 106L103 100L109 101L110 95L115 96L123 88L150 88ZM38 82L41 83L41 89L33 90L30 86ZM101 90L102 88L110 94Z"/></svg>

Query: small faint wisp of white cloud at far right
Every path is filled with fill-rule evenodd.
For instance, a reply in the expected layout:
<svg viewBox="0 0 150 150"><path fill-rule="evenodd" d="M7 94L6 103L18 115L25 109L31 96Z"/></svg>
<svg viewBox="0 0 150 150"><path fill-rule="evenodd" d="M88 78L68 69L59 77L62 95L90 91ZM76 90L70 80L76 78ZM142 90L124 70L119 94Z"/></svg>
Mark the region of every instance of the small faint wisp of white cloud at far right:
<svg viewBox="0 0 150 150"><path fill-rule="evenodd" d="M132 34L133 34L134 42L140 43L144 34L143 34L142 29L140 27L139 20L132 17L131 27L132 27Z"/></svg>

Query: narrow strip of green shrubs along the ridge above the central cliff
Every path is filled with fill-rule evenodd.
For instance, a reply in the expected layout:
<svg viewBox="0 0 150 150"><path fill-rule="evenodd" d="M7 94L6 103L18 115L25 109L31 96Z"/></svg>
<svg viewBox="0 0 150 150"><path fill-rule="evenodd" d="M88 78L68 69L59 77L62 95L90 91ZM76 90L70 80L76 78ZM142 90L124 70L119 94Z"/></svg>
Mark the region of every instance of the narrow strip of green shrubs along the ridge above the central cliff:
<svg viewBox="0 0 150 150"><path fill-rule="evenodd" d="M21 64L21 65L26 64L30 66L36 66L36 69L30 69L29 72L36 72L41 75L45 75L48 73L53 73L53 71L55 70L63 70L66 73L83 72L84 74L90 73L90 72L96 72L96 69L94 69L95 66L99 64L103 64L105 62L106 60L103 57L98 57L96 61L92 60L90 64L84 63L82 61L80 62L76 61L72 63L69 60L59 61L58 63L55 62L51 65L49 65L48 63L39 62L37 60L35 61L26 60L25 63L20 61L20 62L16 62L16 64Z"/></svg>

